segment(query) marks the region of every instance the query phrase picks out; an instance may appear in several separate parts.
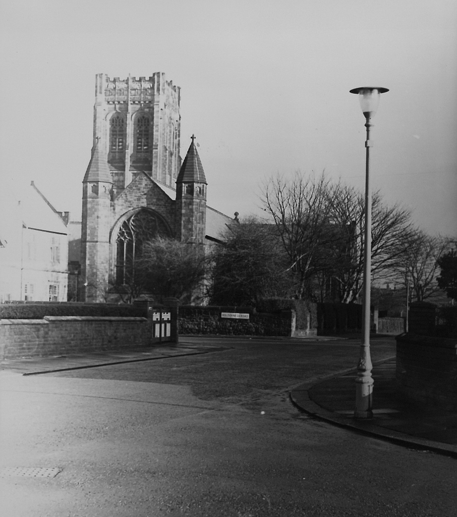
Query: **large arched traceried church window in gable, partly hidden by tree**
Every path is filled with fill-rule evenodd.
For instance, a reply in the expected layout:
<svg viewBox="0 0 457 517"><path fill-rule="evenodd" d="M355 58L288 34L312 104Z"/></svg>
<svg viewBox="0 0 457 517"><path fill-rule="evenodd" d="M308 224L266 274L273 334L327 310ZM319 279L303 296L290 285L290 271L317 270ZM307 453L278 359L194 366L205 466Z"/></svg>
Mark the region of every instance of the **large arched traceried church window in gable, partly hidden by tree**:
<svg viewBox="0 0 457 517"><path fill-rule="evenodd" d="M126 219L116 239L116 284L132 285L141 281L135 264L143 256L143 244L157 236L168 236L163 219L150 210L141 209Z"/></svg>

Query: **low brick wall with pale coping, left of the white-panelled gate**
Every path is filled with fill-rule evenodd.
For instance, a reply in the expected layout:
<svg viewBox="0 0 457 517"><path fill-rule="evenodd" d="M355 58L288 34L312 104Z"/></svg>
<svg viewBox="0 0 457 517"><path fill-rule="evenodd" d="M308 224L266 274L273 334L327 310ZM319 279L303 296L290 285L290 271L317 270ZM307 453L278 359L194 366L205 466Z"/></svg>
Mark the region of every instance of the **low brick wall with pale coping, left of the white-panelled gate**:
<svg viewBox="0 0 457 517"><path fill-rule="evenodd" d="M125 349L150 344L141 317L46 316L0 320L0 359Z"/></svg>

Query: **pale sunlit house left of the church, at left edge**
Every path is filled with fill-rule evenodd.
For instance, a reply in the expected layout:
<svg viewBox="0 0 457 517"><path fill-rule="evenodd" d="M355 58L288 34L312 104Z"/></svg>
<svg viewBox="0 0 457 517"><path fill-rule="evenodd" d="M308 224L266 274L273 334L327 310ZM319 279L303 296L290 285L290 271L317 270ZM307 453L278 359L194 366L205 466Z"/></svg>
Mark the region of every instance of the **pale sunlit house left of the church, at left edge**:
<svg viewBox="0 0 457 517"><path fill-rule="evenodd" d="M65 301L68 213L61 214L35 184L0 192L0 303Z"/></svg>

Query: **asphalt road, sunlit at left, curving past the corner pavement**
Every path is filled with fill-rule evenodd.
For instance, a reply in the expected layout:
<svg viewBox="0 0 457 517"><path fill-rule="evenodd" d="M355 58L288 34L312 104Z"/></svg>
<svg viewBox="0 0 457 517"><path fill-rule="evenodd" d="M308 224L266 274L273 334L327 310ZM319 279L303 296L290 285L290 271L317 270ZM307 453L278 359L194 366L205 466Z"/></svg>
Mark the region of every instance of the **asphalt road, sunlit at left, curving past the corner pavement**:
<svg viewBox="0 0 457 517"><path fill-rule="evenodd" d="M3 515L457 515L455 459L334 427L290 403L293 386L353 368L358 340L181 342L224 349L2 372L3 465L60 470L4 470ZM392 355L393 339L373 340L373 361Z"/></svg>

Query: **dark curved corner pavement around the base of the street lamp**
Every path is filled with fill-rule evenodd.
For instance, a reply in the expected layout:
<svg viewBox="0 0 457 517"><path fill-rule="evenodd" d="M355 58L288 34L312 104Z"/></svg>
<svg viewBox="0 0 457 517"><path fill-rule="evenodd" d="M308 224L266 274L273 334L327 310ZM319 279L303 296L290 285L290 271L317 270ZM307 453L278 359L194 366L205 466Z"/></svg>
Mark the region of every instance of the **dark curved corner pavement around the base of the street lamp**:
<svg viewBox="0 0 457 517"><path fill-rule="evenodd" d="M457 413L424 409L399 398L395 357L373 364L372 377L371 419L354 417L355 369L295 387L290 398L308 415L340 427L457 458Z"/></svg>

